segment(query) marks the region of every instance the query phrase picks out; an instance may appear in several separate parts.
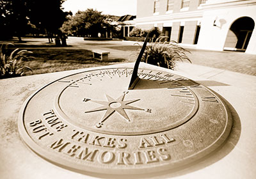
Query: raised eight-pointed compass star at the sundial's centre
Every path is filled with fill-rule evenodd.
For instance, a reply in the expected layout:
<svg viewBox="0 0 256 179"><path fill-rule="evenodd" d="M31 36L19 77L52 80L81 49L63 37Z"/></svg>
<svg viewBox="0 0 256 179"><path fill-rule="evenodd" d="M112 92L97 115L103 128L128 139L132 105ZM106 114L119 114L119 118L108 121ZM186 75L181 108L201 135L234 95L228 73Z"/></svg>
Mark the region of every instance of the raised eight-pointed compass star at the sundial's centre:
<svg viewBox="0 0 256 179"><path fill-rule="evenodd" d="M126 121L130 122L131 120L129 119L129 117L125 113L124 109L133 109L133 110L142 110L142 111L144 111L144 109L128 105L128 104L131 104L133 102L137 102L140 99L124 100L124 97L125 97L125 94L121 95L117 99L109 97L109 95L106 95L106 98L108 99L108 101L90 100L91 102L95 102L97 104L102 104L102 106L97 107L97 108L95 108L91 111L85 111L84 113L92 113L92 112L96 112L96 111L107 110L106 113L104 114L102 120L95 126L97 128L102 127L104 121L106 121L109 118L109 116L111 116L113 113L115 113L115 111L117 113L119 113L121 116L123 116Z"/></svg>

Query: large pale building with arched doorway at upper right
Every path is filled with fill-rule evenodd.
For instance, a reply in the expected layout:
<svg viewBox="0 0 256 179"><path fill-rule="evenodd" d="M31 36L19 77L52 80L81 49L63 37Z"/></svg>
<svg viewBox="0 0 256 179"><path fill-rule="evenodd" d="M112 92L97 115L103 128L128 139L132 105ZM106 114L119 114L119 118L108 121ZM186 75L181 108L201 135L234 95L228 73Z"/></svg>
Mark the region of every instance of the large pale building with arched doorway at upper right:
<svg viewBox="0 0 256 179"><path fill-rule="evenodd" d="M182 45L256 54L255 0L137 0L133 21Z"/></svg>

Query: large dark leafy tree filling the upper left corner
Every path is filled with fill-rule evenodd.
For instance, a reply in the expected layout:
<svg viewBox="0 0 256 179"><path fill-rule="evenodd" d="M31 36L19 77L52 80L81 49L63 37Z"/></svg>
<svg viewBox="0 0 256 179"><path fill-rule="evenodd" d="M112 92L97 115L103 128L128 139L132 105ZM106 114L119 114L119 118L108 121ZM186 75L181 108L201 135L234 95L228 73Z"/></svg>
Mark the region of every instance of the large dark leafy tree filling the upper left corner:
<svg viewBox="0 0 256 179"><path fill-rule="evenodd" d="M61 4L65 0L1 0L1 37L21 36L35 25L45 29L49 36L57 34L68 12L63 12Z"/></svg>

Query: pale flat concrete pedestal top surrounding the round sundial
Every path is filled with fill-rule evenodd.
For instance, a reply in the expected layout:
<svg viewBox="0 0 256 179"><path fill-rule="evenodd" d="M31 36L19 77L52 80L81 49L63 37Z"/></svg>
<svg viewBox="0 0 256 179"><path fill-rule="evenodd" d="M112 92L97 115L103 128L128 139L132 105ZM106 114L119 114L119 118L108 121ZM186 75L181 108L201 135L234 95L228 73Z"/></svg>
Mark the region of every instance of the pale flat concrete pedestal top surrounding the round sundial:
<svg viewBox="0 0 256 179"><path fill-rule="evenodd" d="M131 67L134 63L129 64ZM113 65L121 67L122 65ZM143 66L143 64L141 64ZM150 68L154 69L154 66ZM97 68L93 68L97 69ZM166 70L166 69L163 69ZM74 72L32 75L0 80L1 178L125 178L76 173L56 166L32 152L22 141L17 118L22 103L37 89ZM168 70L167 70L168 71ZM134 178L253 178L256 175L256 77L182 63L172 73L193 79L229 102L233 125L227 142L199 162L179 171L136 175ZM126 178L131 178L127 176Z"/></svg>

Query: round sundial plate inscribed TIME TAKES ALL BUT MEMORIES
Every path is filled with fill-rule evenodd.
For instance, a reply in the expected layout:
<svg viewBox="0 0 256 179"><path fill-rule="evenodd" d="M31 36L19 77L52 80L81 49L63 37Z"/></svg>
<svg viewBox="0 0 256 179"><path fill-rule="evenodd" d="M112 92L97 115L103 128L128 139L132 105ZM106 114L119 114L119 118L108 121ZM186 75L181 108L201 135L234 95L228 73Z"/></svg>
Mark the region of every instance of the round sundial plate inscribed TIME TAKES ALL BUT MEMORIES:
<svg viewBox="0 0 256 179"><path fill-rule="evenodd" d="M175 169L217 150L232 125L221 97L139 63L84 70L39 89L20 110L22 139L42 158L82 173Z"/></svg>

